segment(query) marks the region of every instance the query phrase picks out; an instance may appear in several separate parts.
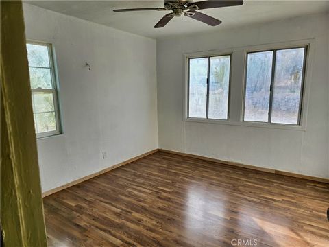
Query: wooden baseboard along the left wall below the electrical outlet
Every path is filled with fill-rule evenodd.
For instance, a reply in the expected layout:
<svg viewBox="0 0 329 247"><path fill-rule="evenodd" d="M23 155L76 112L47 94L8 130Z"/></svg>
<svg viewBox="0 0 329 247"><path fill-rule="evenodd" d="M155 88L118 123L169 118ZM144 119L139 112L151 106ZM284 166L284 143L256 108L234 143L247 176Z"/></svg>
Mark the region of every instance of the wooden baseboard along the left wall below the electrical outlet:
<svg viewBox="0 0 329 247"><path fill-rule="evenodd" d="M82 182L84 182L84 181L86 181L86 180L88 180L90 178L95 177L95 176L99 176L99 175L101 175L103 173L110 172L112 169L115 169L117 167L121 167L121 165L126 165L128 163L132 163L133 161L137 161L138 159L143 158L145 156L149 156L150 154L154 154L155 152L158 152L158 148L155 149L155 150L151 150L149 152L146 152L145 154L138 155L138 156L136 156L134 158L130 158L127 161L123 161L123 162L118 163L116 165L112 165L111 167L108 167L106 169L102 169L99 172L95 172L95 173L90 174L88 176L84 176L82 178L79 178L77 180L74 180L74 181L72 181L70 183L66 183L65 185L61 185L61 186L56 187L54 189L50 189L49 191L45 191L44 193L42 193L42 198L44 198L45 196L49 196L49 195L51 195L53 193L56 193L58 191L61 191L62 189L66 189L66 188L69 188L69 187L71 187L73 185L77 185L78 183L82 183Z"/></svg>

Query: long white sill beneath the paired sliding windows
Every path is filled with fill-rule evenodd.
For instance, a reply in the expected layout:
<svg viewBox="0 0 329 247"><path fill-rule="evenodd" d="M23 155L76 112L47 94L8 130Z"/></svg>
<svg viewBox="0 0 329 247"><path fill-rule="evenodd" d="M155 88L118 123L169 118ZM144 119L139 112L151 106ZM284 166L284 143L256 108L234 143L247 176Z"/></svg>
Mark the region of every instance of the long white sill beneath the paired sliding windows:
<svg viewBox="0 0 329 247"><path fill-rule="evenodd" d="M232 121L232 120L220 120L220 119L200 119L195 117L184 117L183 121L191 121L202 124L225 124L230 126L245 126L245 127L256 127L256 128L272 128L278 130L297 130L306 131L304 126L294 126L290 124L270 124L260 123L251 121Z"/></svg>

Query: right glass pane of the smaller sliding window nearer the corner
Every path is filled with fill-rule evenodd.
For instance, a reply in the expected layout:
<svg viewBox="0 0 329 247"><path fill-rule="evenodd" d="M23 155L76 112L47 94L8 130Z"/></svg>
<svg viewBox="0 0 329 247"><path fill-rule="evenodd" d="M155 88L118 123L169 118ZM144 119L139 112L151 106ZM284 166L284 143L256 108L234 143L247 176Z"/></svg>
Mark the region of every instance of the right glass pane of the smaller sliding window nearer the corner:
<svg viewBox="0 0 329 247"><path fill-rule="evenodd" d="M210 119L228 119L230 56L210 58L209 113Z"/></svg>

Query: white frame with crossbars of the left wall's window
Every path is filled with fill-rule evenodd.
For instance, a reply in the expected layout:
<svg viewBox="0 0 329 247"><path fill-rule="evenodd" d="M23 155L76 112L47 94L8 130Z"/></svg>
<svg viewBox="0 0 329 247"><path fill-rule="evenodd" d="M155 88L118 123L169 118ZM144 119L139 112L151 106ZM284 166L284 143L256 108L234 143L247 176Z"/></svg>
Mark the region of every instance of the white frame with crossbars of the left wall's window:
<svg viewBox="0 0 329 247"><path fill-rule="evenodd" d="M32 97L32 106L34 104L33 102L33 93L53 93L53 108L54 108L54 113L55 113L55 120L56 120L56 130L51 130L47 132L41 132L41 133L36 133L36 138L37 139L42 139L45 137L53 137L59 134L62 134L62 115L61 110L60 110L60 102L59 102L59 84L58 84L58 72L57 72L57 66L56 66L56 56L55 56L55 50L53 49L53 45L51 43L45 43L45 42L40 42L40 41L35 41L35 40L27 40L26 45L31 44L31 45L40 45L40 46L45 46L48 48L48 58L49 58L49 68L48 67L34 67L34 66L29 66L29 68L45 68L45 69L50 69L50 74L51 74L51 84L52 84L52 89L31 89L31 97ZM33 112L35 115L35 113ZM37 123L36 123L37 125Z"/></svg>

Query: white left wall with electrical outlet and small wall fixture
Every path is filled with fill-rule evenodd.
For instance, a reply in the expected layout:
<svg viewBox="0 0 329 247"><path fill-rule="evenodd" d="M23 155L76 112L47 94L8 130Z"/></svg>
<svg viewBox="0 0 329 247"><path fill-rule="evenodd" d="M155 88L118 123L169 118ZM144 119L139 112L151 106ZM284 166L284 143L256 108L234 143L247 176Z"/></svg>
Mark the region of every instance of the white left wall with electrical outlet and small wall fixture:
<svg viewBox="0 0 329 247"><path fill-rule="evenodd" d="M64 133L38 139L42 191L158 148L156 40L27 4L24 16L60 79Z"/></svg>

